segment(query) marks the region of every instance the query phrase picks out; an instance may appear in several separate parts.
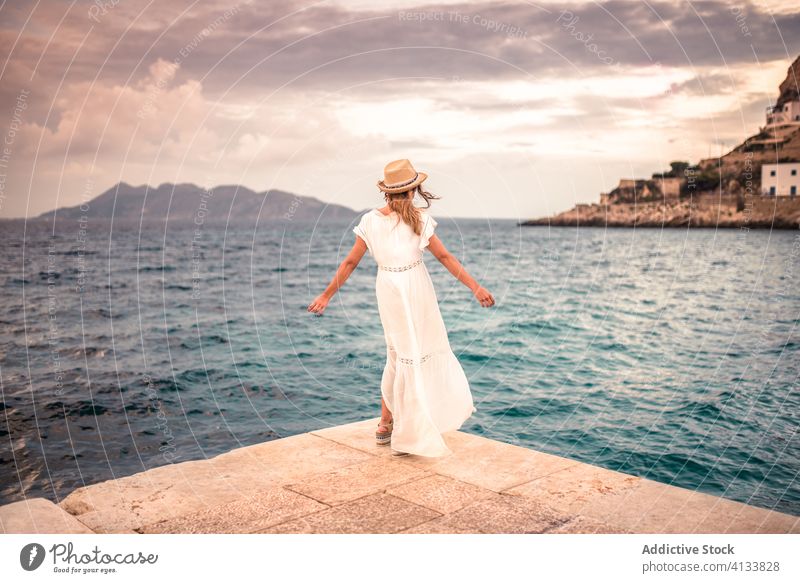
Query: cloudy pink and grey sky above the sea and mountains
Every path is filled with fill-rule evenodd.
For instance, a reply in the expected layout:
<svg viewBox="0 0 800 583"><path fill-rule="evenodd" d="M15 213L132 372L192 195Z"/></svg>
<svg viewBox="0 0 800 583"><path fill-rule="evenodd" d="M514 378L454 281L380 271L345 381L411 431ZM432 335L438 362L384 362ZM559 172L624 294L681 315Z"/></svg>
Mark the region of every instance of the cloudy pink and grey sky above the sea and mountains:
<svg viewBox="0 0 800 583"><path fill-rule="evenodd" d="M0 0L0 217L119 181L530 218L756 133L795 1Z"/></svg>

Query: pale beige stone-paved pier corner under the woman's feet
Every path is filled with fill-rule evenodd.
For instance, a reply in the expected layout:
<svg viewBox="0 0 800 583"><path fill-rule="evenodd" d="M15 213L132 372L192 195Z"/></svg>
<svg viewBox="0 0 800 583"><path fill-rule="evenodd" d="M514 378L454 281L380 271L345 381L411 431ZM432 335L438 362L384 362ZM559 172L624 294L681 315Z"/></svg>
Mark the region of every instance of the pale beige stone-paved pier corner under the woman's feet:
<svg viewBox="0 0 800 583"><path fill-rule="evenodd" d="M378 418L0 507L5 533L800 533L800 517L453 431L395 457Z"/></svg>

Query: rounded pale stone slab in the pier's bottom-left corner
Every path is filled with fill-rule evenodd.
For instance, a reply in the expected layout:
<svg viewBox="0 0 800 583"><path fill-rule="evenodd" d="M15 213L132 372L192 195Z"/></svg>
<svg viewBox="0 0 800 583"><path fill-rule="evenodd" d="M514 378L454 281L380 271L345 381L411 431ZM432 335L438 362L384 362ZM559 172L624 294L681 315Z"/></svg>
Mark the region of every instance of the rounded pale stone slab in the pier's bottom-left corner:
<svg viewBox="0 0 800 583"><path fill-rule="evenodd" d="M91 534L85 524L46 498L0 506L3 534Z"/></svg>

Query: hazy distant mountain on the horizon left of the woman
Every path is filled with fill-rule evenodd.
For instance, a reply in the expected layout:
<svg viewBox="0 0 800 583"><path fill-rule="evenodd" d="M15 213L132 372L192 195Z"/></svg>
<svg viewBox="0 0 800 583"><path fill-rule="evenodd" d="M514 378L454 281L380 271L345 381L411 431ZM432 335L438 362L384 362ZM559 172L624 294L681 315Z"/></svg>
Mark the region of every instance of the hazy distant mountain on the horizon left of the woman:
<svg viewBox="0 0 800 583"><path fill-rule="evenodd" d="M190 183L131 186L120 182L83 205L42 213L37 219L111 219L121 221L169 220L185 223L241 223L283 219L353 218L356 211L328 204L310 196L281 190L254 192L237 185L215 186L210 190Z"/></svg>

